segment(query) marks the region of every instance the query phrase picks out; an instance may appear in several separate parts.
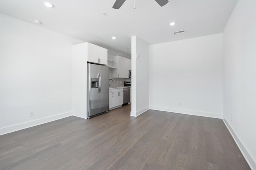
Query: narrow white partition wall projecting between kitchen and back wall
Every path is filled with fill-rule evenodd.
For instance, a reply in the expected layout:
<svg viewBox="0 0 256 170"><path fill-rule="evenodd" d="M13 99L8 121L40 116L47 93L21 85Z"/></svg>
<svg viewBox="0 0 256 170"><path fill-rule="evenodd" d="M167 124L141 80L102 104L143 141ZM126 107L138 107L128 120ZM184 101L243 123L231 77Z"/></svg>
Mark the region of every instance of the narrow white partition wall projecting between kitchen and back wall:
<svg viewBox="0 0 256 170"><path fill-rule="evenodd" d="M132 37L131 116L138 116L149 109L148 66L149 45L136 36Z"/></svg>

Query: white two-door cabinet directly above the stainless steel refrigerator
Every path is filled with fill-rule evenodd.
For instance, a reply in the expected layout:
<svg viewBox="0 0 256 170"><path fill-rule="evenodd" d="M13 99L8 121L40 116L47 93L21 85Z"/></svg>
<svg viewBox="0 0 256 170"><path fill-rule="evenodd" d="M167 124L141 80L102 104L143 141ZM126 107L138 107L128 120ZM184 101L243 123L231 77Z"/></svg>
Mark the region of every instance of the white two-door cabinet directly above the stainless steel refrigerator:
<svg viewBox="0 0 256 170"><path fill-rule="evenodd" d="M108 64L108 50L98 45L87 43L87 61L97 64Z"/></svg>

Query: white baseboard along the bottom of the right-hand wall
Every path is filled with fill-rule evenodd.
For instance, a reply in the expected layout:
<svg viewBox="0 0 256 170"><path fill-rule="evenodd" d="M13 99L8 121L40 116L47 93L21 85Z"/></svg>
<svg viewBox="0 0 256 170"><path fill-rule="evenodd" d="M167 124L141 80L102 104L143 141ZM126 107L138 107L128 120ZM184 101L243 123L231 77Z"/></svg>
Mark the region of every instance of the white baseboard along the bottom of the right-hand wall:
<svg viewBox="0 0 256 170"><path fill-rule="evenodd" d="M249 164L250 168L252 170L256 170L256 160L252 157L252 154L248 151L248 149L245 147L244 143L240 140L232 126L228 123L226 117L223 115L223 121L228 128L229 132L231 133L234 141L236 142L236 145L242 152L244 158L246 159L247 163Z"/></svg>

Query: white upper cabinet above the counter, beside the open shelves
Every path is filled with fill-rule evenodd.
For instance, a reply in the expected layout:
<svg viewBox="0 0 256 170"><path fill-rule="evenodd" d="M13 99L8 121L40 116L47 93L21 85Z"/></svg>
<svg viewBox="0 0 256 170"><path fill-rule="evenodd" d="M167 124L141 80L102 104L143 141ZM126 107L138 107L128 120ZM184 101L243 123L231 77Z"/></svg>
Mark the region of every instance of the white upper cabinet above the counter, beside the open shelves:
<svg viewBox="0 0 256 170"><path fill-rule="evenodd" d="M121 56L114 56L116 68L113 69L113 78L129 78L131 60Z"/></svg>

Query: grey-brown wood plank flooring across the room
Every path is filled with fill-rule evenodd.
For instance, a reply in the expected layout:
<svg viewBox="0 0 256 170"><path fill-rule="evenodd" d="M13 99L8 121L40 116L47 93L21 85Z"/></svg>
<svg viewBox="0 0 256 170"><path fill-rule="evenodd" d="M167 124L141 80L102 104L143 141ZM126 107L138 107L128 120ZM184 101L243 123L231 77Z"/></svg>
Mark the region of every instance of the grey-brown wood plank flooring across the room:
<svg viewBox="0 0 256 170"><path fill-rule="evenodd" d="M222 119L130 105L0 136L0 170L249 170Z"/></svg>

